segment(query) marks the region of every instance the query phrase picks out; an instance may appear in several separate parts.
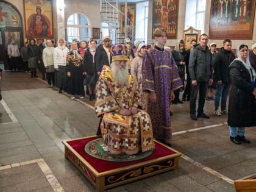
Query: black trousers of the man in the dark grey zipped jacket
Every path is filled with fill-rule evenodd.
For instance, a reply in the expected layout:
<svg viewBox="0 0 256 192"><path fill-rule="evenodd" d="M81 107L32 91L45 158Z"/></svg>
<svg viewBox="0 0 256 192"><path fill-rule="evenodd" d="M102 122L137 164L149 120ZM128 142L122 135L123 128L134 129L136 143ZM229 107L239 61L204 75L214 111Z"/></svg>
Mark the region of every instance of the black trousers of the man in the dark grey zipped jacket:
<svg viewBox="0 0 256 192"><path fill-rule="evenodd" d="M196 99L197 99L198 91L199 91L199 99L198 99L197 113L198 114L204 113L204 102L205 102L207 87L208 87L208 82L197 82L197 85L191 85L190 115L196 114Z"/></svg>

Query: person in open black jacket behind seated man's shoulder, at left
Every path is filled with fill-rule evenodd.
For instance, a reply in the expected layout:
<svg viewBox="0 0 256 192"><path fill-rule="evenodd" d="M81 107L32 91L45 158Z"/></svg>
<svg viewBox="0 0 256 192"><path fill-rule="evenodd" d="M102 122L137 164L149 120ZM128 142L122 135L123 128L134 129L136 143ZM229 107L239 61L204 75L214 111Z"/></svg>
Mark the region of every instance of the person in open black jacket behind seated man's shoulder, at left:
<svg viewBox="0 0 256 192"><path fill-rule="evenodd" d="M96 54L96 72L99 75L101 74L101 69L103 65L110 66L112 63L112 56L110 54L110 39L108 36L103 37L103 45L100 45L97 48Z"/></svg>

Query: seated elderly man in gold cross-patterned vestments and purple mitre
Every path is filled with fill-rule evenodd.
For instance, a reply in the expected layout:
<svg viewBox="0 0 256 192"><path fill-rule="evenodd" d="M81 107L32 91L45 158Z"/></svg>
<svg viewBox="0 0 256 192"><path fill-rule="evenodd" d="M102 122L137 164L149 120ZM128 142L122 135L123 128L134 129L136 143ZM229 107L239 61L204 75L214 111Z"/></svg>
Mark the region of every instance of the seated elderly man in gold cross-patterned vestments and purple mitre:
<svg viewBox="0 0 256 192"><path fill-rule="evenodd" d="M96 85L96 115L101 117L102 148L112 154L137 154L155 148L151 119L138 109L140 91L128 73L127 48L111 48L111 68L104 65Z"/></svg>

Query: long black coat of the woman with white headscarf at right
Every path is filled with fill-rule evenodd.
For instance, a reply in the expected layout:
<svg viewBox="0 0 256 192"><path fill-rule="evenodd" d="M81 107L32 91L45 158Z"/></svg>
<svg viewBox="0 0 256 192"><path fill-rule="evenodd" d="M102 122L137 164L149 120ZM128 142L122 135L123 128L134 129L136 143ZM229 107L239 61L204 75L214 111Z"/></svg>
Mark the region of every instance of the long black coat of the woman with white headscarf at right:
<svg viewBox="0 0 256 192"><path fill-rule="evenodd" d="M254 85L249 71L243 63L235 60L230 66L231 90L229 96L229 115L227 124L232 127L255 126L253 120Z"/></svg>

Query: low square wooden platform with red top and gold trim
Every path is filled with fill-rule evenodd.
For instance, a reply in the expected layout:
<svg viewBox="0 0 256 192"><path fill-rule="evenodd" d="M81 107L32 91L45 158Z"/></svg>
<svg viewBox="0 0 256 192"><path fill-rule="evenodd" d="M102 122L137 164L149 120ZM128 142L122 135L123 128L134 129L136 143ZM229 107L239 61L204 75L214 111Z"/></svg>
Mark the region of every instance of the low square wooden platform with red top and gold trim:
<svg viewBox="0 0 256 192"><path fill-rule="evenodd" d="M63 141L62 143L65 145L65 157L76 165L98 191L105 191L108 188L179 167L179 158L182 154L158 141L154 141L155 150L152 154L141 160L108 162L91 157L83 149L85 144L96 138L98 137L91 136Z"/></svg>

